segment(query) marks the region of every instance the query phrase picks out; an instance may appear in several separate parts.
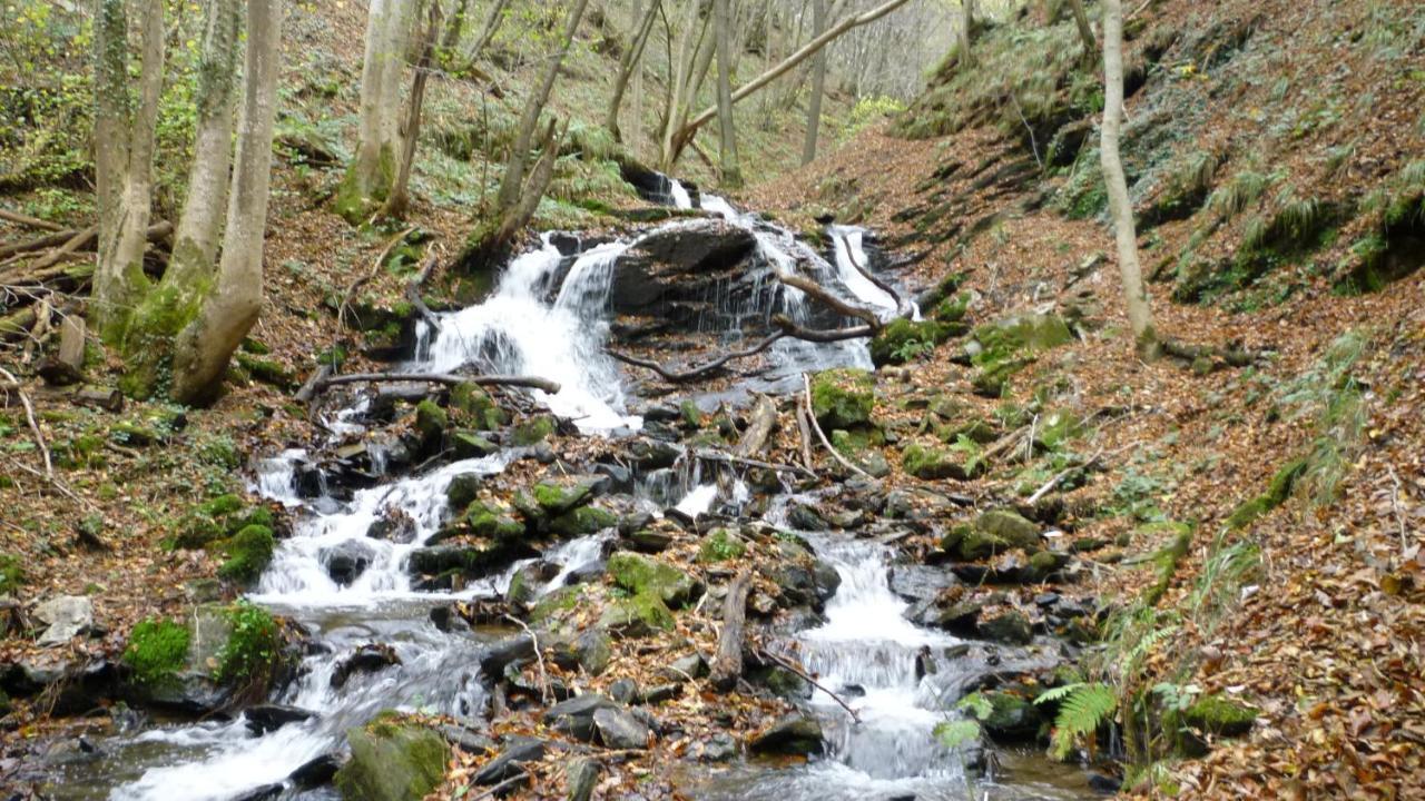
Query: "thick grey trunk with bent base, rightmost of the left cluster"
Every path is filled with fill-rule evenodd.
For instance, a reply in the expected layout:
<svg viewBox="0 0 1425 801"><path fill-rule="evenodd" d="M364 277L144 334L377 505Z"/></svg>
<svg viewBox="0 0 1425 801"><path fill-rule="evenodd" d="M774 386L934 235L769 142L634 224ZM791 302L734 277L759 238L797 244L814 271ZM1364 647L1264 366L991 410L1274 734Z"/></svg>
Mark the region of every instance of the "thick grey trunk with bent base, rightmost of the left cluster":
<svg viewBox="0 0 1425 801"><path fill-rule="evenodd" d="M242 117L222 261L202 311L178 335L172 393L181 402L215 395L228 359L262 308L262 237L281 71L282 0L248 0L247 7Z"/></svg>

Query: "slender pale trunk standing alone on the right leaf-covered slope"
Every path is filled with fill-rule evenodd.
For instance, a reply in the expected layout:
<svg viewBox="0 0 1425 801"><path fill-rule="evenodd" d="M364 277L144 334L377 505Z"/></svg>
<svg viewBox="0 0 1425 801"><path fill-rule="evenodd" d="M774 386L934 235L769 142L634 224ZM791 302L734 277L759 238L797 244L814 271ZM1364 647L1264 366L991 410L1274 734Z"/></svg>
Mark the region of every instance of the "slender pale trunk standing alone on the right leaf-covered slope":
<svg viewBox="0 0 1425 801"><path fill-rule="evenodd" d="M1143 288L1139 267L1139 237L1133 227L1129 182L1119 155L1123 128L1123 1L1103 0L1103 180L1109 191L1109 211L1119 247L1119 272L1123 275L1123 299L1129 308L1136 349L1143 358L1157 358L1160 345L1153 331L1153 311Z"/></svg>

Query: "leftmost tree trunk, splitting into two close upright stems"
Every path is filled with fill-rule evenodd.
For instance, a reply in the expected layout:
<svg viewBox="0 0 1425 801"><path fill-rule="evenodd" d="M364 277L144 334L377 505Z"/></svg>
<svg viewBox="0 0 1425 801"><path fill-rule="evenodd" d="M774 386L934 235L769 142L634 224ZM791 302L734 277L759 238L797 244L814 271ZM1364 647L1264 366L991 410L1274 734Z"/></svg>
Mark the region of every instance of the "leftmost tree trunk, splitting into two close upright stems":
<svg viewBox="0 0 1425 801"><path fill-rule="evenodd" d="M94 23L94 141L98 190L98 264L93 311L103 336L120 342L144 275L152 204L154 135L164 83L164 4L140 6L138 103L130 108L128 14L124 0L98 0Z"/></svg>

